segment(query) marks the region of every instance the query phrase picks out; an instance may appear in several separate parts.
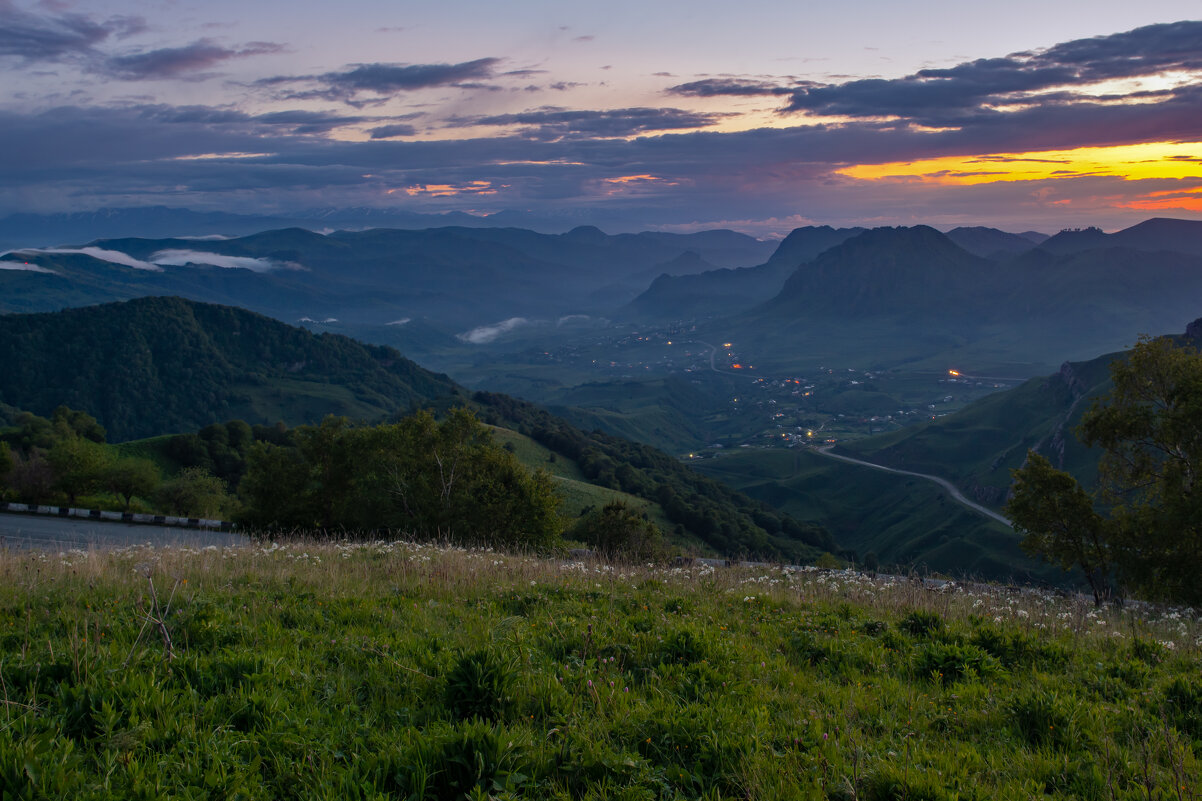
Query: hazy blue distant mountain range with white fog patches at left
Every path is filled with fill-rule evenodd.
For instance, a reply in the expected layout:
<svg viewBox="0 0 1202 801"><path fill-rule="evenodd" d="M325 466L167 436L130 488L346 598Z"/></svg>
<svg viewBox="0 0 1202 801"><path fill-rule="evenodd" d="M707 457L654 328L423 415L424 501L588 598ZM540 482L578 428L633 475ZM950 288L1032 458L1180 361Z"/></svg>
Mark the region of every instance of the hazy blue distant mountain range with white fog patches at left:
<svg viewBox="0 0 1202 801"><path fill-rule="evenodd" d="M653 268L761 262L774 243L733 231L623 233L523 229L305 229L232 239L97 239L0 256L0 312L148 295L228 303L281 320L385 326L427 320L459 333L511 319L603 314ZM695 259L682 259L685 254Z"/></svg>

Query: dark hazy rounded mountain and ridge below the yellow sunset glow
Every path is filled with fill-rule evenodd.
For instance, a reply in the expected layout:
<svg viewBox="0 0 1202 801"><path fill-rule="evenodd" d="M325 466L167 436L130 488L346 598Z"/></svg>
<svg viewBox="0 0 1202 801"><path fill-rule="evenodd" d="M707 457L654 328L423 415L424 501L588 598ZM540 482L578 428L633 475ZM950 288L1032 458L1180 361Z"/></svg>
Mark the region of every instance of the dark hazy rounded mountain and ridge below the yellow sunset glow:
<svg viewBox="0 0 1202 801"><path fill-rule="evenodd" d="M1150 247L1156 230L1172 233L1164 247ZM1055 244L1082 236L1096 247ZM1030 375L1202 312L1202 222L1150 220L1100 236L1061 233L987 259L927 226L875 229L799 266L772 299L710 327L766 366L847 361Z"/></svg>

